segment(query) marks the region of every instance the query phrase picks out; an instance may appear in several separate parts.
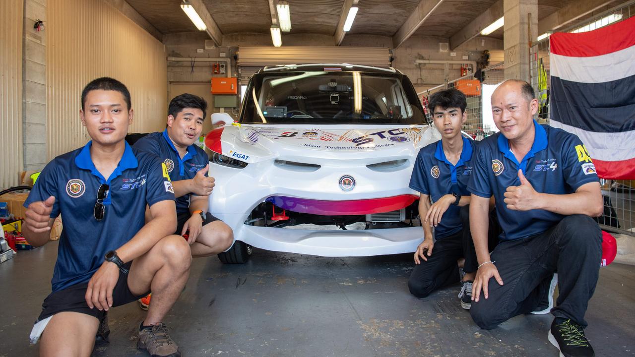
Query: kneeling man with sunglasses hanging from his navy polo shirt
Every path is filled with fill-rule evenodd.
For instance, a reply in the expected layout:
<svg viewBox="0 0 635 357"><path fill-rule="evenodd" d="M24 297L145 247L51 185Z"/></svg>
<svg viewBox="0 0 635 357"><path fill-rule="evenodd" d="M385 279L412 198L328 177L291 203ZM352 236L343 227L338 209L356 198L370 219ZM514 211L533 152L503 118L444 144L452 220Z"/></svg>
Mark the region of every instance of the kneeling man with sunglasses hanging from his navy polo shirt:
<svg viewBox="0 0 635 357"><path fill-rule="evenodd" d="M41 356L90 356L109 308L152 289L156 304L140 323L137 347L180 356L162 321L187 281L191 257L184 239L170 235L177 222L168 173L156 156L124 141L133 119L124 84L95 79L81 101L92 140L48 163L24 204L23 234L34 246L47 243L55 218L64 216L53 292L31 340L41 337ZM147 224L146 206L154 217Z"/></svg>

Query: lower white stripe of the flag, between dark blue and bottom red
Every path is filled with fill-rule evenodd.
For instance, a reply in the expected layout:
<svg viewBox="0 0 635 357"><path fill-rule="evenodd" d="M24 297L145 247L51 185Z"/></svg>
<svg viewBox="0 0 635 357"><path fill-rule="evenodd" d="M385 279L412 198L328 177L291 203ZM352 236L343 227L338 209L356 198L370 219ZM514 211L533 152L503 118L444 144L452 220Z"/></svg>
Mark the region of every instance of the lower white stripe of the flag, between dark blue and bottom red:
<svg viewBox="0 0 635 357"><path fill-rule="evenodd" d="M591 158L602 161L622 161L635 158L635 130L620 133L596 133L551 120L549 125L575 134L589 150Z"/></svg>

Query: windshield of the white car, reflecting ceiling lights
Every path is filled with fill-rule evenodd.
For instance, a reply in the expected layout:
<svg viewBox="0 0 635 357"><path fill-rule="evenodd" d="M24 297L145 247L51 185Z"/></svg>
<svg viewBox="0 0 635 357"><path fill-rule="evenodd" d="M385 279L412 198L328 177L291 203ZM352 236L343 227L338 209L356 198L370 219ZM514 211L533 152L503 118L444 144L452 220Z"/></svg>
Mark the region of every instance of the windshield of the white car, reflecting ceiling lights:
<svg viewBox="0 0 635 357"><path fill-rule="evenodd" d="M251 81L243 123L425 123L412 84L396 73L262 72Z"/></svg>

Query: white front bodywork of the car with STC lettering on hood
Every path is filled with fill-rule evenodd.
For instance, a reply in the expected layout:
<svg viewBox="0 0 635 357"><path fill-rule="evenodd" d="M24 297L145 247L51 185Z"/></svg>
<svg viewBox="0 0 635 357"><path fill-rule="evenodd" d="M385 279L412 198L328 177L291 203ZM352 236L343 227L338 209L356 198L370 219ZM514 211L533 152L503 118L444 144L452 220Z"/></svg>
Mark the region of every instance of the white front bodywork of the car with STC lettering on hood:
<svg viewBox="0 0 635 357"><path fill-rule="evenodd" d="M388 131L371 144L357 144L354 138ZM397 131L394 131L397 130ZM238 125L229 123L217 128L220 154L248 163L243 169L210 164L216 186L210 195L210 212L234 230L234 239L278 252L304 253L326 257L369 256L414 252L422 241L420 226L359 231L304 230L258 227L244 224L250 212L272 196L304 198L316 201L351 201L391 198L418 192L408 187L418 150L441 137L427 125L398 128L395 125L347 127L338 125ZM294 137L281 137L297 133ZM318 133L317 137L302 134ZM396 142L389 138L403 137ZM324 140L324 138L328 138ZM393 139L394 140L394 139ZM403 140L403 139L399 139ZM366 165L405 159L392 172L376 172ZM314 172L289 170L274 161L320 165ZM351 191L343 191L339 180L351 175Z"/></svg>

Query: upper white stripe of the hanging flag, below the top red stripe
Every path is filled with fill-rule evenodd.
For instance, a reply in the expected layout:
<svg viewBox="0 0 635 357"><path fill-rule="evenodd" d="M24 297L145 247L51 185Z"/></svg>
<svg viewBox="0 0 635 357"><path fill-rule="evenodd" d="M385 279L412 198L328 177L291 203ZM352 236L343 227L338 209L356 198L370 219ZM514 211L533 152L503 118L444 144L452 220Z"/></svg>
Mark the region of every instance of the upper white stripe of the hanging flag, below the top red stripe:
<svg viewBox="0 0 635 357"><path fill-rule="evenodd" d="M594 57L549 55L551 76L579 83L605 83L635 75L635 46Z"/></svg>

